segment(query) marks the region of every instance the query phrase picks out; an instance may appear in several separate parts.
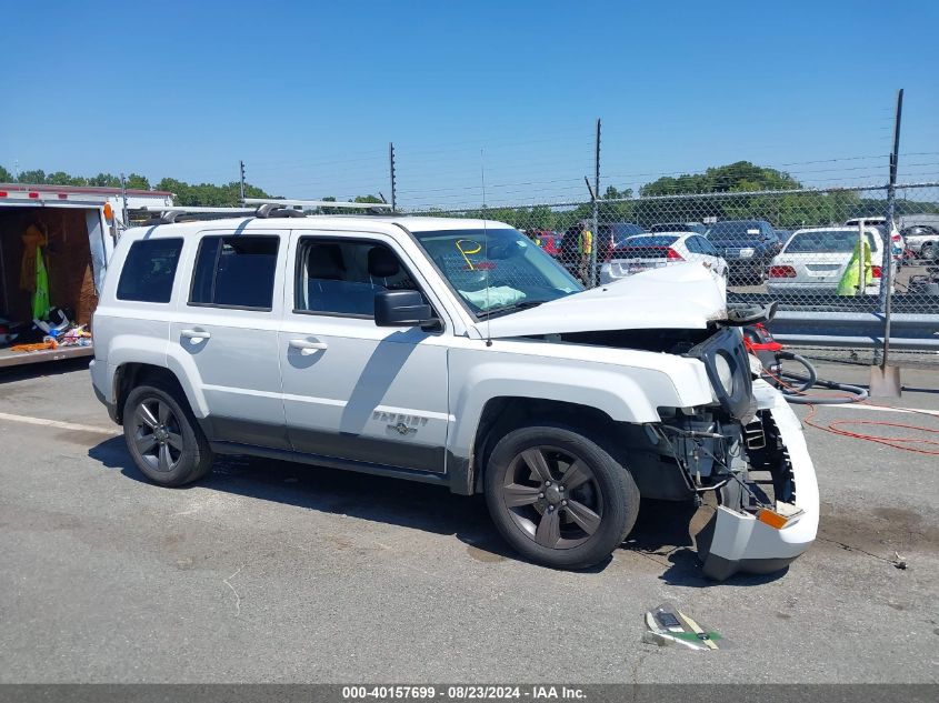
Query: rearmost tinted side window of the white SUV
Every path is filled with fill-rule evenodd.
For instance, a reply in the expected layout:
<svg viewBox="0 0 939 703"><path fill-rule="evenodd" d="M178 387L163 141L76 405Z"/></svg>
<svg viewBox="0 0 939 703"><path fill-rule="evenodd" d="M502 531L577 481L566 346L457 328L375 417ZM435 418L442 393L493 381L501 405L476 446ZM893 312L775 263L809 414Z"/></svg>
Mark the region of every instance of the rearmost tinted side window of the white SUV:
<svg viewBox="0 0 939 703"><path fill-rule="evenodd" d="M127 252L118 300L168 303L172 297L181 239L148 239L133 242Z"/></svg>

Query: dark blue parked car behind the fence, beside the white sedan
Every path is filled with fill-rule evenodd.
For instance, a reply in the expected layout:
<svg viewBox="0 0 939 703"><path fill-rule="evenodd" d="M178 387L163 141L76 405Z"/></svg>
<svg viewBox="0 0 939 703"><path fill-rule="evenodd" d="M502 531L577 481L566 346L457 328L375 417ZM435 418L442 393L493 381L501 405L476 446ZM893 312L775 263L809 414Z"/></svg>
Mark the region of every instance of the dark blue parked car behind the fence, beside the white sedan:
<svg viewBox="0 0 939 703"><path fill-rule="evenodd" d="M766 220L727 220L708 228L706 237L730 267L729 282L760 285L782 244Z"/></svg>

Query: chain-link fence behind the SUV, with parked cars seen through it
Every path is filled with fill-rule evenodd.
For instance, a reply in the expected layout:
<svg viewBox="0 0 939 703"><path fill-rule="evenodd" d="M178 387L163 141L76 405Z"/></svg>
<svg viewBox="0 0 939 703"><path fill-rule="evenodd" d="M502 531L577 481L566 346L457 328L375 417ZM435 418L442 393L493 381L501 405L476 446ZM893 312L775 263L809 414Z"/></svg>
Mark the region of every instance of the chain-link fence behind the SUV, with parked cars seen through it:
<svg viewBox="0 0 939 703"><path fill-rule="evenodd" d="M781 310L879 312L889 279L893 312L939 314L939 183L898 185L889 227L887 210L883 187L432 213L507 222L588 287L697 261L726 277L733 301L778 301Z"/></svg>

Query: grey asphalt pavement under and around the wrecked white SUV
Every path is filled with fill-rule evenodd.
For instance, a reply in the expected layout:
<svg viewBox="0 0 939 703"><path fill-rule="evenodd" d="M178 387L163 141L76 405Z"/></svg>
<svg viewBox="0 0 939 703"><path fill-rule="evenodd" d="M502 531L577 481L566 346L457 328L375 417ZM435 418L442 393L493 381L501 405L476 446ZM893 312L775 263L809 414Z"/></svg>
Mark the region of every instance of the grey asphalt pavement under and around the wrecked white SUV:
<svg viewBox="0 0 939 703"><path fill-rule="evenodd" d="M812 421L939 429L937 372L903 382L877 402L926 413ZM552 571L519 561L479 498L240 458L161 489L119 431L83 363L0 374L0 682L939 680L936 456L807 428L818 541L785 573L713 584L673 504L643 503L609 562ZM723 649L642 644L667 601Z"/></svg>

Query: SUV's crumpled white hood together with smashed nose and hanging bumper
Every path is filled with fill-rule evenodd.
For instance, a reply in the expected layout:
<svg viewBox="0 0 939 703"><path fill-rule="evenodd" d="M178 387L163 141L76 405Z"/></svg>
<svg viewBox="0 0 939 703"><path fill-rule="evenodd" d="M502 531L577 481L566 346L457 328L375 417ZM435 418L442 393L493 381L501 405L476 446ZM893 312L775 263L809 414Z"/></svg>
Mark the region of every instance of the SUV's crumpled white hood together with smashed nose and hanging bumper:
<svg viewBox="0 0 939 703"><path fill-rule="evenodd" d="M692 525L703 523L696 534L703 572L723 580L783 569L818 529L818 484L801 424L755 372L740 332L773 312L775 304L728 304L723 281L689 263L491 320L486 334L700 362L707 382L697 364L695 375L706 392L710 385L710 402L698 395L695 406L657 404L658 422L621 422L618 439L642 498L698 502Z"/></svg>

